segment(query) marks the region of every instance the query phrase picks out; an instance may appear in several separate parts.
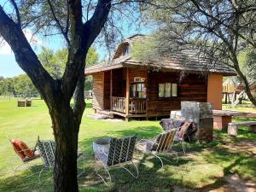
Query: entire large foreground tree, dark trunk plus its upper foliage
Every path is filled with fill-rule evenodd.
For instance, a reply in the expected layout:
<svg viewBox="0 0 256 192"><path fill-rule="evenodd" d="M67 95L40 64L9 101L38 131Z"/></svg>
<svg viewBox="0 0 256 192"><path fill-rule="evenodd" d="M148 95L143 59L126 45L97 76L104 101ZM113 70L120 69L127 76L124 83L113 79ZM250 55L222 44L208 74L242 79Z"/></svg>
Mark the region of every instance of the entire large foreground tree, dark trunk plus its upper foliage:
<svg viewBox="0 0 256 192"><path fill-rule="evenodd" d="M103 37L107 40L115 38L114 24L118 21L115 15L117 10L128 12L127 4L123 8L125 2L11 0L0 6L0 35L10 45L17 63L49 108L55 136L55 191L79 190L77 149L79 125L85 108L85 59L100 32L104 32ZM140 3L131 3L131 10L138 10L139 6ZM47 36L61 34L68 53L61 79L52 78L43 67L22 32L25 27ZM72 97L73 107L70 105Z"/></svg>

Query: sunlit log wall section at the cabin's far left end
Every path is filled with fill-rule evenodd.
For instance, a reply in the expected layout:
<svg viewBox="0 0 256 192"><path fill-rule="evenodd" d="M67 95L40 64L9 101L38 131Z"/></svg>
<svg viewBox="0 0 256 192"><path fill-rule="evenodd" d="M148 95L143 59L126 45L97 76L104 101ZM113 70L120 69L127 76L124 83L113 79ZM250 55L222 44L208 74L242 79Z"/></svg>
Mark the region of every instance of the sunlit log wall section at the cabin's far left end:
<svg viewBox="0 0 256 192"><path fill-rule="evenodd" d="M92 108L103 109L103 72L93 74Z"/></svg>

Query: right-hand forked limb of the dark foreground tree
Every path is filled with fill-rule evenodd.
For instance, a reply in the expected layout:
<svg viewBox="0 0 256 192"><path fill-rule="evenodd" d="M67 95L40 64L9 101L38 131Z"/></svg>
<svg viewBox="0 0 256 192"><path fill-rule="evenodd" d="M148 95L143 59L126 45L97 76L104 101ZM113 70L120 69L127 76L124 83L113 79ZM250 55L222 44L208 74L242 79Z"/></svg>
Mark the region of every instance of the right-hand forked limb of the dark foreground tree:
<svg viewBox="0 0 256 192"><path fill-rule="evenodd" d="M81 70L84 70L84 60L90 45L102 31L111 8L111 0L99 0L94 14L84 24L82 22L82 5L80 1L69 3L71 18L71 42L69 48L69 61L63 75L63 88L67 96L73 92L79 81ZM84 73L84 71L83 71Z"/></svg>

